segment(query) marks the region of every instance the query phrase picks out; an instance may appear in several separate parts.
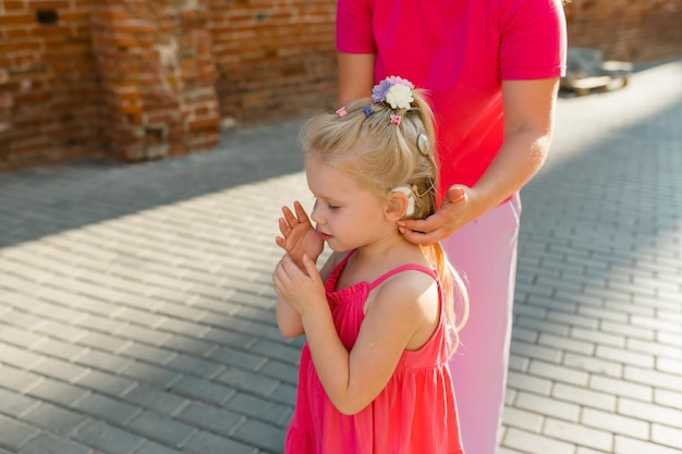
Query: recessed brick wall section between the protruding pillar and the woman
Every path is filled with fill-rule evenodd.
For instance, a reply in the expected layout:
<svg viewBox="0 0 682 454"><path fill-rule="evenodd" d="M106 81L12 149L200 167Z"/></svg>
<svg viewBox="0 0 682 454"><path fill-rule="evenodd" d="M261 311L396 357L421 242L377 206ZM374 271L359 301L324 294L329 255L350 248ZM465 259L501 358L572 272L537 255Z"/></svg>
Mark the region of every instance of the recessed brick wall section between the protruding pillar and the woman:
<svg viewBox="0 0 682 454"><path fill-rule="evenodd" d="M336 1L210 2L221 115L291 118L336 99Z"/></svg>

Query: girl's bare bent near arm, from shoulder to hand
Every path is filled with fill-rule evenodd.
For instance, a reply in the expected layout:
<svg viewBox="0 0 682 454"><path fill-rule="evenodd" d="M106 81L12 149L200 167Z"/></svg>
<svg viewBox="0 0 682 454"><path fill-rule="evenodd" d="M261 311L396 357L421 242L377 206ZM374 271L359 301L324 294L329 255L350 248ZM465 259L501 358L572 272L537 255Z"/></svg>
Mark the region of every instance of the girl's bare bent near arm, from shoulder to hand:
<svg viewBox="0 0 682 454"><path fill-rule="evenodd" d="M334 406L352 415L386 388L403 352L416 349L431 335L439 316L434 280L405 271L389 279L367 304L351 352L341 343L314 265L304 260L308 278L291 261L280 263L276 286L301 314L313 363Z"/></svg>

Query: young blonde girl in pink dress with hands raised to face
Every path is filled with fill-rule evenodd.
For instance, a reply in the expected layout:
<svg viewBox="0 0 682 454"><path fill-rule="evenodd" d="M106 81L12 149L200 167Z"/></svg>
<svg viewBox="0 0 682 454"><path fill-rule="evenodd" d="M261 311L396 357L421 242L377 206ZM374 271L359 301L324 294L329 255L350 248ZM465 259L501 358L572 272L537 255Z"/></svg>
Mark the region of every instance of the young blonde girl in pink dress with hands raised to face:
<svg viewBox="0 0 682 454"><path fill-rule="evenodd" d="M429 106L388 77L302 138L316 228L299 203L283 208L272 277L280 331L306 335L285 453L463 453L447 361L462 324L453 290L462 321L466 294L441 246L398 225L437 208Z"/></svg>

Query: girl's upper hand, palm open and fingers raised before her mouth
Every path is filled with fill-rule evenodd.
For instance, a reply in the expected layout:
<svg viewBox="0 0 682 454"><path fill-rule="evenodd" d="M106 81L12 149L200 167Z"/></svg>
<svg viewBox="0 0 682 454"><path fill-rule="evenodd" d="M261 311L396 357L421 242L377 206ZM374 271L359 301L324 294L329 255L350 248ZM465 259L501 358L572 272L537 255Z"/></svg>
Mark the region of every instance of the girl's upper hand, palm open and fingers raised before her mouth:
<svg viewBox="0 0 682 454"><path fill-rule="evenodd" d="M322 253L325 242L315 232L307 213L297 200L294 201L294 210L295 214L289 207L282 208L284 217L279 220L279 231L282 236L276 237L275 242L303 270L305 269L303 256L307 255L313 262L316 262L317 257Z"/></svg>

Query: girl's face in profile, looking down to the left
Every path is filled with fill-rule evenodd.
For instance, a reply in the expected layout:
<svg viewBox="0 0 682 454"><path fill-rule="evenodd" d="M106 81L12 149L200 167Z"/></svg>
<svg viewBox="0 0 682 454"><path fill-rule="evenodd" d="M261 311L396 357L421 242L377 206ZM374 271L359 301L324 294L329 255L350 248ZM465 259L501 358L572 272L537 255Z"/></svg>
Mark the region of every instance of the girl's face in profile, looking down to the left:
<svg viewBox="0 0 682 454"><path fill-rule="evenodd" d="M315 196L310 218L337 251L362 247L395 231L386 216L387 200L361 186L354 176L310 156L305 173Z"/></svg>

